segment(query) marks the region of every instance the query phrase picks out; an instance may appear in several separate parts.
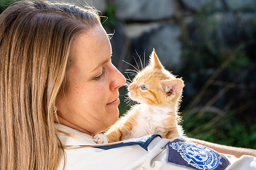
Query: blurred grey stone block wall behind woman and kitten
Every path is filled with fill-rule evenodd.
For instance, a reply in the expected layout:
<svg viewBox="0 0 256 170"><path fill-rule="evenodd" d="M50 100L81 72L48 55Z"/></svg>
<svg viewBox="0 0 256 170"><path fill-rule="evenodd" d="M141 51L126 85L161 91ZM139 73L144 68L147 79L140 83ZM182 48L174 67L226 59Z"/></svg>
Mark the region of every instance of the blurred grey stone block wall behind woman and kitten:
<svg viewBox="0 0 256 170"><path fill-rule="evenodd" d="M196 22L205 23L205 30L200 30L208 31L205 38L217 36L226 47L236 43L244 25L256 18L255 0L88 0L88 4L114 20L103 26L108 33L115 32L113 61L121 71L126 67L120 60L130 61L137 53L147 60L153 48L165 67L179 70L182 43L198 39ZM202 14L204 20L198 18Z"/></svg>

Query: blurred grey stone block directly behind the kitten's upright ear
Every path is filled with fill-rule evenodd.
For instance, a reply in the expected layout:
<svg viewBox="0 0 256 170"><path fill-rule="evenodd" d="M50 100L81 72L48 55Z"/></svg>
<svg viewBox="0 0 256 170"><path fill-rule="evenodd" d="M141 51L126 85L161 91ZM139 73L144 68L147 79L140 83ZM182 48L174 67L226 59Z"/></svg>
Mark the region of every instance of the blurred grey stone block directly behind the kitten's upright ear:
<svg viewBox="0 0 256 170"><path fill-rule="evenodd" d="M181 57L180 26L173 23L163 23L159 28L145 32L138 38L132 38L134 56L144 55L146 61L155 48L161 63L167 69L179 69ZM136 50L136 52L135 52Z"/></svg>

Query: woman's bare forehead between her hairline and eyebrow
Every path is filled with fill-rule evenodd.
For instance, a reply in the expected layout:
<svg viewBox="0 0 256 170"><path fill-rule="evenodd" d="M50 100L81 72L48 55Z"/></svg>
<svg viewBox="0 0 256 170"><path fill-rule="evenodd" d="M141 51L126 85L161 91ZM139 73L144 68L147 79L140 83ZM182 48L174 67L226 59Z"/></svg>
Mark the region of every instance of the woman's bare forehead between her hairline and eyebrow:
<svg viewBox="0 0 256 170"><path fill-rule="evenodd" d="M92 73L110 60L111 53L107 33L102 26L97 26L74 40L69 61L72 62L72 67Z"/></svg>

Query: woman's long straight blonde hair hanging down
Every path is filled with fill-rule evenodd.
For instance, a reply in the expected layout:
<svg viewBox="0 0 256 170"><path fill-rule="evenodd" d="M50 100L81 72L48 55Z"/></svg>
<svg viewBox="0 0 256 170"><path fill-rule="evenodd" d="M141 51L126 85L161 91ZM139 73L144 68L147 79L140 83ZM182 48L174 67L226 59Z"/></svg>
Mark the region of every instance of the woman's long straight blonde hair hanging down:
<svg viewBox="0 0 256 170"><path fill-rule="evenodd" d="M55 133L54 103L70 45L100 24L95 10L21 1L0 15L0 169L52 170L63 147Z"/></svg>

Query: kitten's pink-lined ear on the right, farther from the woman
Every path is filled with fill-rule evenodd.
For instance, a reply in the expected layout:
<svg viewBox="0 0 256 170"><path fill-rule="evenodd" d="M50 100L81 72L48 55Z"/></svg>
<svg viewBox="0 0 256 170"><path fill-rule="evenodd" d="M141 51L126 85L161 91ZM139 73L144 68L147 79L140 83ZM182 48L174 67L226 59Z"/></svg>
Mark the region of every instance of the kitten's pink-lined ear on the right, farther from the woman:
<svg viewBox="0 0 256 170"><path fill-rule="evenodd" d="M168 96L178 94L184 86L182 79L161 80L161 83Z"/></svg>

